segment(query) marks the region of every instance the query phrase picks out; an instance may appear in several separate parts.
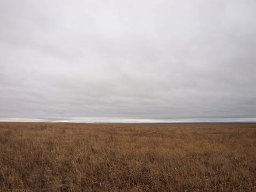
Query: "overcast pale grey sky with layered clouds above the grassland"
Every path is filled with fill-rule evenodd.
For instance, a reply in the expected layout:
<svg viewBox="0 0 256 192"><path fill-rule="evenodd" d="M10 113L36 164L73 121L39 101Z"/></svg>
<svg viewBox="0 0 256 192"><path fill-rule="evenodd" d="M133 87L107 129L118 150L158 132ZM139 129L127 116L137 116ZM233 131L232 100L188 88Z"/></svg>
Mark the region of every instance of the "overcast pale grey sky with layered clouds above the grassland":
<svg viewBox="0 0 256 192"><path fill-rule="evenodd" d="M0 121L256 121L256 1L0 1Z"/></svg>

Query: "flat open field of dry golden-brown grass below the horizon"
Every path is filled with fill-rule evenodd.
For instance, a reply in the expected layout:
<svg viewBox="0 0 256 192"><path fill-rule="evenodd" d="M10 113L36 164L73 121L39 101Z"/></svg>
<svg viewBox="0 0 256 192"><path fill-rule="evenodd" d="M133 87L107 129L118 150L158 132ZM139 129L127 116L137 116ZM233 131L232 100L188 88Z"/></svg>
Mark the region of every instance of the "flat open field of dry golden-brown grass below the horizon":
<svg viewBox="0 0 256 192"><path fill-rule="evenodd" d="M256 124L0 122L0 191L256 191Z"/></svg>

